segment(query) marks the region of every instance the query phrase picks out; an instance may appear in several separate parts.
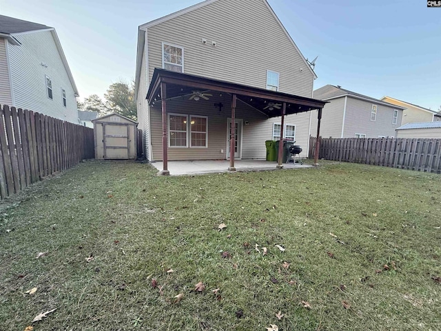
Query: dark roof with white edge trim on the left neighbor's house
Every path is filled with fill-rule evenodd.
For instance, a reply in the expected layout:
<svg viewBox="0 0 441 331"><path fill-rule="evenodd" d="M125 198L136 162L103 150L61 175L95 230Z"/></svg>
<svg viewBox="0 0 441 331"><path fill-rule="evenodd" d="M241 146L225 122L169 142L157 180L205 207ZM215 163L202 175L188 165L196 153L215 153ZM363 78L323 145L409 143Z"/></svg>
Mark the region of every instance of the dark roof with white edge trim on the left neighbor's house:
<svg viewBox="0 0 441 331"><path fill-rule="evenodd" d="M68 74L70 83L72 84L74 94L76 95L76 97L78 97L78 88L76 88L76 83L74 81L74 77L72 76L72 72L70 71L68 60L65 57L63 48L61 48L61 43L57 31L55 31L55 29L50 26L45 26L44 24L23 21L23 19L15 19L14 17L0 15L0 37L7 38L8 41L10 41L13 45L21 45L20 41L18 41L15 36L23 34L25 32L40 32L42 30L50 31L50 33L52 34L55 46L57 46L61 61L63 62L63 66Z"/></svg>

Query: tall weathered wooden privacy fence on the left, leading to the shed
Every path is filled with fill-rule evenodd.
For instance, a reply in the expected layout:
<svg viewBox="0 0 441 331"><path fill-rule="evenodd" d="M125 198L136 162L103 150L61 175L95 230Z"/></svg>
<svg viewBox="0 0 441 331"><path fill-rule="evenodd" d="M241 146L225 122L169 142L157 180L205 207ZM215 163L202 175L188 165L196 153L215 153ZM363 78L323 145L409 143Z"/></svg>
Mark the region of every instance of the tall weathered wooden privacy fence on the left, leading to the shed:
<svg viewBox="0 0 441 331"><path fill-rule="evenodd" d="M94 158L94 130L0 105L0 196Z"/></svg>

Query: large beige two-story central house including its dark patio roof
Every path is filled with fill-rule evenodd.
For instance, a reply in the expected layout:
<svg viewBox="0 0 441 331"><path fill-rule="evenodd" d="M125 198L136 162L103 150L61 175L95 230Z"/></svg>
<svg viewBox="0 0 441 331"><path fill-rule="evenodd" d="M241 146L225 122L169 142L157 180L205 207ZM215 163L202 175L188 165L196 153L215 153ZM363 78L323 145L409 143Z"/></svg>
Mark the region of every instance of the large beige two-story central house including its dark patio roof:
<svg viewBox="0 0 441 331"><path fill-rule="evenodd" d="M309 110L324 104L311 99L315 78L266 0L207 0L145 23L135 76L145 156L231 159L236 103L233 159L265 159L284 102L284 137L306 155Z"/></svg>

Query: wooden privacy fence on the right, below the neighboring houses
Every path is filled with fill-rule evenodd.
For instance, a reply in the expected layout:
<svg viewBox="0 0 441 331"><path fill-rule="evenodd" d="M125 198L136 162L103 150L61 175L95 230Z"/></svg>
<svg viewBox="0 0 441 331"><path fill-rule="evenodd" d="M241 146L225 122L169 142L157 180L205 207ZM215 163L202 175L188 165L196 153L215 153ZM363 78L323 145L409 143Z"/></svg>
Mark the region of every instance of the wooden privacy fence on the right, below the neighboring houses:
<svg viewBox="0 0 441 331"><path fill-rule="evenodd" d="M314 156L316 138L309 141ZM319 159L441 172L441 139L321 138Z"/></svg>

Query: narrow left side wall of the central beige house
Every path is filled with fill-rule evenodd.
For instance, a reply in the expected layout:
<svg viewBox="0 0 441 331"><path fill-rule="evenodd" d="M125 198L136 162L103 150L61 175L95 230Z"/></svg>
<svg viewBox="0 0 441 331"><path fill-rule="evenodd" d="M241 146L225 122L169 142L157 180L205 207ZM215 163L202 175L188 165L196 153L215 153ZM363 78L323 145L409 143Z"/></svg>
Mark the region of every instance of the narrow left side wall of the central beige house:
<svg viewBox="0 0 441 331"><path fill-rule="evenodd" d="M143 61L141 63L141 79L138 86L138 99L136 108L138 110L138 128L143 132L143 153L149 159L149 112L148 102L145 99L147 95L147 68L145 61L145 51L143 51Z"/></svg>

